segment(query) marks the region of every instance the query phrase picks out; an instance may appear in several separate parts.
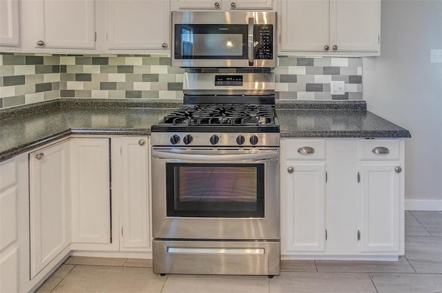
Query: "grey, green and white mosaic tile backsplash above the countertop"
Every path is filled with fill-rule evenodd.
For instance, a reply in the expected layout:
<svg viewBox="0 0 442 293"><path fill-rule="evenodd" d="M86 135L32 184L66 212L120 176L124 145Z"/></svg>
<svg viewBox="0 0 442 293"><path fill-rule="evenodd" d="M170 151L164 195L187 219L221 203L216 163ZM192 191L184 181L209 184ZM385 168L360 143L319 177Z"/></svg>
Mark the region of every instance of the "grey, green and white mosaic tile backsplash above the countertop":
<svg viewBox="0 0 442 293"><path fill-rule="evenodd" d="M183 68L167 55L0 53L0 108L59 97L182 100ZM362 59L280 56L280 100L362 100ZM344 81L345 95L330 82Z"/></svg>

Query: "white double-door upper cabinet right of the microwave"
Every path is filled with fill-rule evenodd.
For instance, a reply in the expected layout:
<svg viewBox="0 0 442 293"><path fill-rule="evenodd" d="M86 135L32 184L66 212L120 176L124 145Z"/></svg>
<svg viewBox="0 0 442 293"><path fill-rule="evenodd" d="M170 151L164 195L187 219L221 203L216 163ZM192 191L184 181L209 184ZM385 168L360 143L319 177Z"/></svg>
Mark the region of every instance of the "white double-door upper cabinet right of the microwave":
<svg viewBox="0 0 442 293"><path fill-rule="evenodd" d="M280 52L378 55L380 0L281 0Z"/></svg>

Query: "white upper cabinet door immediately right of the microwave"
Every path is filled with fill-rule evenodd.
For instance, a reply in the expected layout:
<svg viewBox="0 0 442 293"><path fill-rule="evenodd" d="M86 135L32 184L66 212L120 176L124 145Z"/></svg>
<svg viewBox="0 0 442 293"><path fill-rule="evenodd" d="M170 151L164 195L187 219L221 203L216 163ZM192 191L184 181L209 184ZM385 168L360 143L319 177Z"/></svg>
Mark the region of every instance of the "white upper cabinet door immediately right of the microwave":
<svg viewBox="0 0 442 293"><path fill-rule="evenodd" d="M326 52L329 0L281 0L280 5L280 50Z"/></svg>

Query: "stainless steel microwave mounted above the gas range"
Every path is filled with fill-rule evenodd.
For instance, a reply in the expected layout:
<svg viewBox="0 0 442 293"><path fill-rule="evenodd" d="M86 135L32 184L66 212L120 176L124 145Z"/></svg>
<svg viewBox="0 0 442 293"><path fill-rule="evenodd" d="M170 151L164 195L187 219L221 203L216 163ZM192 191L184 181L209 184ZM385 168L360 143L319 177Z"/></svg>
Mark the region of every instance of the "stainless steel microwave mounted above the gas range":
<svg viewBox="0 0 442 293"><path fill-rule="evenodd" d="M276 67L276 12L172 12L172 66Z"/></svg>

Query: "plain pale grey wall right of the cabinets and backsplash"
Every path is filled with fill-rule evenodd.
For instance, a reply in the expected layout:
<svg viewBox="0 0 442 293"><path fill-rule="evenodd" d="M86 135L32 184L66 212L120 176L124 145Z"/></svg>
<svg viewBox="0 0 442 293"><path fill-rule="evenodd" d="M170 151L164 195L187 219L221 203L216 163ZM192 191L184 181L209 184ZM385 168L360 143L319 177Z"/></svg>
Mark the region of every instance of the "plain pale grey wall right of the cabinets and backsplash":
<svg viewBox="0 0 442 293"><path fill-rule="evenodd" d="M381 56L363 59L363 98L369 111L412 134L405 199L440 210L442 64L430 64L430 49L442 49L442 1L383 0L381 13Z"/></svg>

